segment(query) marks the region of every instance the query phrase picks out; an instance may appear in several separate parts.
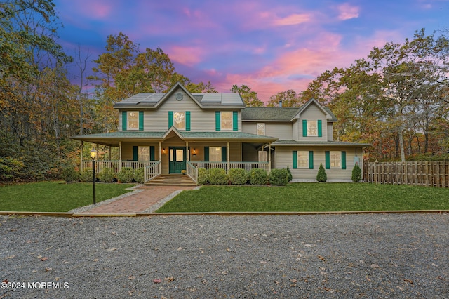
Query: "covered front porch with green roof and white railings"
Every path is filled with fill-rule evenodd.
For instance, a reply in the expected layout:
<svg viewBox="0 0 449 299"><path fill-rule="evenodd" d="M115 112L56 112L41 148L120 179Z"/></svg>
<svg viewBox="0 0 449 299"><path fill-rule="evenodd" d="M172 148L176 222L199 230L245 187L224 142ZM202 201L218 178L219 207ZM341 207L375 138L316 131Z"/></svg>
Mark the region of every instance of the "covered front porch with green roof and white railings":
<svg viewBox="0 0 449 299"><path fill-rule="evenodd" d="M276 138L241 132L187 132L172 127L166 132L114 132L79 135L74 139L109 147L109 154L95 161L95 171L101 173L112 168L119 173L122 168L145 168L145 182L159 175L186 174L196 184L199 168L243 168L250 171L262 168L271 170L271 143ZM112 160L110 150L119 148L119 159ZM243 154L243 149L253 153ZM266 152L260 154L258 152ZM248 159L250 157L250 159ZM257 159L264 157L264 159ZM80 169L91 169L91 159L81 154Z"/></svg>

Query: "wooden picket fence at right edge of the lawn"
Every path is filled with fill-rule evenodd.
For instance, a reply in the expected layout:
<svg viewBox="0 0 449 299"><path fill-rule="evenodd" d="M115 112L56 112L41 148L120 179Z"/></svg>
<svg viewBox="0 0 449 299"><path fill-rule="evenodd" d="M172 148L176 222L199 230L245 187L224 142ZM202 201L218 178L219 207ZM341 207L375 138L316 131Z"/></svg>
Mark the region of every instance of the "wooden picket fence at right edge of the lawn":
<svg viewBox="0 0 449 299"><path fill-rule="evenodd" d="M449 187L449 161L363 162L363 180L380 184Z"/></svg>

